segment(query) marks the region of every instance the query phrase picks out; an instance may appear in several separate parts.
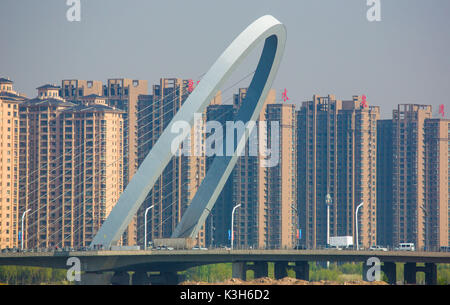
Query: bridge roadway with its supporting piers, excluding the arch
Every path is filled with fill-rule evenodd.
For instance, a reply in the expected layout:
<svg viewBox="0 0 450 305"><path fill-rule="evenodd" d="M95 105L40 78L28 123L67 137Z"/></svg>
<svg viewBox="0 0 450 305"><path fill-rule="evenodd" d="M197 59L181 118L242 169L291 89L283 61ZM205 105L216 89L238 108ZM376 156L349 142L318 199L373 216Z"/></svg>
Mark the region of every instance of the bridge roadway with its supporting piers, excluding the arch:
<svg viewBox="0 0 450 305"><path fill-rule="evenodd" d="M415 284L416 273L424 272L426 284L437 283L437 264L450 264L450 253L416 251L350 250L147 250L73 251L44 253L3 253L1 265L68 269L71 257L80 260L81 284L178 284L179 272L195 266L232 263L233 278L246 279L248 270L255 278L268 276L268 263L274 263L274 276L281 279L288 270L296 278L309 280L309 262L365 262L376 257L390 284L397 283L396 265L404 264L404 283ZM424 264L420 266L418 264ZM157 274L151 274L151 273ZM131 274L131 275L130 275Z"/></svg>

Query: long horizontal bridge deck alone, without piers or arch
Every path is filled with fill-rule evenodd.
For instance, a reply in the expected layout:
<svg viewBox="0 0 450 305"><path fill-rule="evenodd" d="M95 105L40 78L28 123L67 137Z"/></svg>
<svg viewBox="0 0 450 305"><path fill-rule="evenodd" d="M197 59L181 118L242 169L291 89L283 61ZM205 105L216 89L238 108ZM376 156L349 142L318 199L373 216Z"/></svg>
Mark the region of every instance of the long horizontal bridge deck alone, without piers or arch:
<svg viewBox="0 0 450 305"><path fill-rule="evenodd" d="M44 253L1 253L0 265L67 268L69 257L78 257L83 271L159 270L161 267L184 270L186 267L230 262L363 262L377 257L381 262L445 263L450 253L409 251L350 250L148 250L148 251L74 251Z"/></svg>

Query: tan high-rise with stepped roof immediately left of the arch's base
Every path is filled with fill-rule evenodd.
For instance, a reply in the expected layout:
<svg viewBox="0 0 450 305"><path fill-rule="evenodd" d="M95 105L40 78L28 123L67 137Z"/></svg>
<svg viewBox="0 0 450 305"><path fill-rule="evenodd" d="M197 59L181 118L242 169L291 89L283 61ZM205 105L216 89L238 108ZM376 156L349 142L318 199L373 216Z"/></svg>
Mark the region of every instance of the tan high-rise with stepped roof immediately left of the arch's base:
<svg viewBox="0 0 450 305"><path fill-rule="evenodd" d="M106 100L95 95L86 96L82 105L64 110L61 116L63 138L72 133L74 141L64 141L64 158L72 159L78 169L65 170L63 181L72 181L75 192L73 244L89 246L103 221L111 212L123 190L123 111L107 106ZM69 137L70 138L70 137ZM70 146L72 145L72 147ZM71 157L66 155L70 151ZM76 173L80 172L77 176ZM65 186L64 186L65 188ZM63 195L71 215L69 199ZM64 206L64 209L66 207ZM64 218L63 218L64 219ZM69 224L67 225L69 226ZM70 235L62 236L64 245Z"/></svg>

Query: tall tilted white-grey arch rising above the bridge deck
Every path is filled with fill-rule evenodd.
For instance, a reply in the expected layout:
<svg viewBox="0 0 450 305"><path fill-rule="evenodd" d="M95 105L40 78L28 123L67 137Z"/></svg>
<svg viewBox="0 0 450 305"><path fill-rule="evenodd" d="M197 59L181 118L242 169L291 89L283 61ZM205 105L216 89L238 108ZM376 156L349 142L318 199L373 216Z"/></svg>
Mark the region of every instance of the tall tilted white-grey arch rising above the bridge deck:
<svg viewBox="0 0 450 305"><path fill-rule="evenodd" d="M189 95L167 128L149 152L144 162L122 193L91 243L109 247L115 244L130 223L133 215L144 202L156 180L170 162L173 154L171 143L179 135L171 132L177 121L194 122L194 113L202 113L217 91L228 80L241 61L262 41L264 48L246 98L235 120L244 123L256 121L278 71L286 43L286 29L272 16L263 16L248 26L222 53L202 81ZM235 153L230 157L216 157L200 185L188 209L176 227L172 237L195 237L209 211L214 206L227 181L237 156L245 148L251 128L237 139ZM184 134L187 136L188 133Z"/></svg>

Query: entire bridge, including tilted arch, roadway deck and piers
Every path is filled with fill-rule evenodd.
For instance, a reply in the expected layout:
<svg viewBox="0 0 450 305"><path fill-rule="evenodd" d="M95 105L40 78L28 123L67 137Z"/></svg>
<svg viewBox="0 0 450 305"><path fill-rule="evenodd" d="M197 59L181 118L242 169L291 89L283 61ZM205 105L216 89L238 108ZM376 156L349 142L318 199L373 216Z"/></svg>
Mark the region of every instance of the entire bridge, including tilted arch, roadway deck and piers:
<svg viewBox="0 0 450 305"><path fill-rule="evenodd" d="M299 279L309 279L309 262L366 262L377 257L389 283L397 281L396 264L404 263L405 283L415 283L416 273L424 272L427 284L436 284L436 264L450 263L450 254L432 252L376 252L338 250L173 250L173 251L98 251L98 246L111 249L123 235L146 196L155 185L166 165L174 156L171 144L178 136L173 125L186 121L191 126L195 113L202 113L209 101L226 82L241 61L261 42L263 51L236 121L247 124L255 121L261 112L269 89L278 71L285 48L286 29L272 16L264 16L247 27L222 53L199 85L163 131L152 150L128 183L118 202L95 235L90 251L20 252L0 254L0 265L68 268L69 258L80 260L84 284L148 284L179 282L178 272L190 267L216 263L232 263L233 277L245 279L248 270L256 278L268 276L268 263L274 263L275 278L283 278L287 271L295 271ZM230 176L239 155L245 148L250 128L236 138L233 154L214 158L194 198L177 224L172 241L194 239L214 207L224 184ZM189 132L185 132L186 137ZM229 147L227 147L228 151ZM190 249L190 247L185 247ZM424 264L418 266L417 264ZM363 264L363 277L368 266ZM149 275L156 272L156 275ZM111 273L111 274L110 274ZM130 278L130 273L132 276Z"/></svg>

